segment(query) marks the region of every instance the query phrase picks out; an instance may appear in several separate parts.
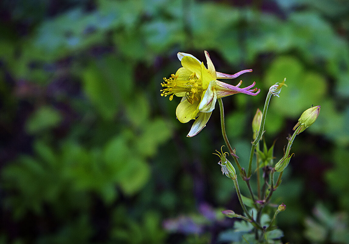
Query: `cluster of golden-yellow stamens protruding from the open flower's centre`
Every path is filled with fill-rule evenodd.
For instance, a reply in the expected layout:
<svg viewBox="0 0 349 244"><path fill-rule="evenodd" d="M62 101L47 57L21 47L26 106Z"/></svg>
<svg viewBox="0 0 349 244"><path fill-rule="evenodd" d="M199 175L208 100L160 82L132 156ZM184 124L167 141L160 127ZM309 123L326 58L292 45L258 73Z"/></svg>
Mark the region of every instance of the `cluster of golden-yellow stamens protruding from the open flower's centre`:
<svg viewBox="0 0 349 244"><path fill-rule="evenodd" d="M201 82L199 82L199 78L196 76L196 73L192 73L186 79L178 79L178 75L175 76L171 74L169 79L164 78L164 82L161 83L162 87L167 87L165 89L160 90L161 96L170 95L170 101L173 99L174 94L178 94L179 96L185 96L188 102L191 104L194 101L198 101L200 98L200 94L202 93Z"/></svg>

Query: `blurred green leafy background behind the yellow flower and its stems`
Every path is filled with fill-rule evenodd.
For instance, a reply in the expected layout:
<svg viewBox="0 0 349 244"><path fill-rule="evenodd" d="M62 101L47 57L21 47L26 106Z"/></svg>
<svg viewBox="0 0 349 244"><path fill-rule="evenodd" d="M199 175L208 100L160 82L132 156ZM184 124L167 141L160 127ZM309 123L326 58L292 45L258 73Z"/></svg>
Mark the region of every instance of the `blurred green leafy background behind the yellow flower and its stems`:
<svg viewBox="0 0 349 244"><path fill-rule="evenodd" d="M241 79L256 81L258 96L224 99L243 166L271 85L287 78L265 127L279 157L300 114L321 105L273 196L287 204L277 219L285 242L306 242L301 223L318 199L349 211L347 0L7 0L0 9L1 243L215 243L229 232L219 218L188 238L162 227L203 203L238 208L211 155L223 144L217 111L185 138L179 101L159 95L178 51L203 60L207 50L221 72L254 70Z"/></svg>

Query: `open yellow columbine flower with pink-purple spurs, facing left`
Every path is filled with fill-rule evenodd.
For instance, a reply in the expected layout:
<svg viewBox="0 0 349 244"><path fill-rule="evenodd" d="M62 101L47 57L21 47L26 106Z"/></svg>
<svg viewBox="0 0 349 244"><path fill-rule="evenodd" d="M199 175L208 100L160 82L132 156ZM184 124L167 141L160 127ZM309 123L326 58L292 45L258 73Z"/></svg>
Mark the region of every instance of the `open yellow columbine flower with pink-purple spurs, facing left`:
<svg viewBox="0 0 349 244"><path fill-rule="evenodd" d="M234 79L240 74L252 72L252 70L242 70L236 74L216 72L207 51L205 51L207 69L203 62L191 54L179 52L177 56L183 67L179 68L176 74L172 74L169 79L164 78L161 85L166 88L161 90L161 95L170 95L170 100L173 99L173 95L182 97L176 109L177 119L180 122L186 123L197 117L187 135L188 137L195 136L206 126L212 110L215 108L217 98L237 93L255 96L260 92L260 89L251 89L255 82L248 87L239 88L242 81L233 86L217 80Z"/></svg>

